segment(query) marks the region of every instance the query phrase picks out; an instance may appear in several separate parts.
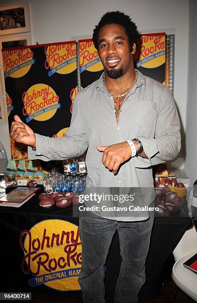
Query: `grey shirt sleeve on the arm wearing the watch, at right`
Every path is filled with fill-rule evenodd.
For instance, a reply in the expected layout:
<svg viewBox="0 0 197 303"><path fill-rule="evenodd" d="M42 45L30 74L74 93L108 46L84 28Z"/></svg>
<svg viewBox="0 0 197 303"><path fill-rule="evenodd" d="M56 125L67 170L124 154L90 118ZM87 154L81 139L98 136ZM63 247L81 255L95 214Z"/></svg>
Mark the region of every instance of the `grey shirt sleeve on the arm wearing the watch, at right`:
<svg viewBox="0 0 197 303"><path fill-rule="evenodd" d="M169 89L163 87L154 138L138 136L147 159L135 157L135 166L148 167L174 159L181 149L180 120Z"/></svg>

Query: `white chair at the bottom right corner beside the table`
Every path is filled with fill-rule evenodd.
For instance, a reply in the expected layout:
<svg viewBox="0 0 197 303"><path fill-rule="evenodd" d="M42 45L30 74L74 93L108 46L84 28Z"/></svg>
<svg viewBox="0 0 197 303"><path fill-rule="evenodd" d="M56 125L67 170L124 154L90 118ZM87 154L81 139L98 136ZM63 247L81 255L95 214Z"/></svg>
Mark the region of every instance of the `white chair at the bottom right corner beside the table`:
<svg viewBox="0 0 197 303"><path fill-rule="evenodd" d="M176 262L172 269L172 279L177 288L175 288L170 303L172 303L178 288L197 302L197 274L183 266L183 263L195 253L197 253L197 232L193 226L185 232L173 251Z"/></svg>

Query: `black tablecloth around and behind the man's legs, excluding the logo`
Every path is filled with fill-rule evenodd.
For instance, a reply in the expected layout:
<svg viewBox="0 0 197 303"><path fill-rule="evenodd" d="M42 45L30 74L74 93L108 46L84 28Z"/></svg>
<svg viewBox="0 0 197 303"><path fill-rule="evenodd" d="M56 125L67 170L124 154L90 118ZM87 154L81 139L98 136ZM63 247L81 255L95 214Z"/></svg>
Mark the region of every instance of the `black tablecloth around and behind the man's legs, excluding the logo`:
<svg viewBox="0 0 197 303"><path fill-rule="evenodd" d="M24 252L21 249L19 238L24 230L30 230L37 223L44 220L64 220L72 224L79 224L78 218L73 217L72 205L66 209L53 206L43 209L38 205L38 195L42 189L28 202L19 208L0 206L0 260L1 260L1 285L0 292L58 292L58 296L80 298L81 291L59 291L44 284L35 287L29 285L32 274L25 274L21 270L21 260ZM146 284L142 287L139 300L146 301L158 297L164 279L163 272L167 268L167 275L171 275L172 265L169 259L184 231L192 226L189 217L156 217L150 241L146 266ZM106 299L110 301L115 289L115 283L121 264L119 239L116 233L110 247L106 261L105 287Z"/></svg>

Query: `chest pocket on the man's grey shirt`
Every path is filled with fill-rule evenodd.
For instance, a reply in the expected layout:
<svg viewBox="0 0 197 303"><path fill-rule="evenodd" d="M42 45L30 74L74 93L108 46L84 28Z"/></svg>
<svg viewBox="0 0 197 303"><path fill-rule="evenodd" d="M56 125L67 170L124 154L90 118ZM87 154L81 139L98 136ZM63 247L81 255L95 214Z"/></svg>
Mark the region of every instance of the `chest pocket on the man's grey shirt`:
<svg viewBox="0 0 197 303"><path fill-rule="evenodd" d="M156 124L157 119L156 103L140 101L136 105L136 122L145 127Z"/></svg>

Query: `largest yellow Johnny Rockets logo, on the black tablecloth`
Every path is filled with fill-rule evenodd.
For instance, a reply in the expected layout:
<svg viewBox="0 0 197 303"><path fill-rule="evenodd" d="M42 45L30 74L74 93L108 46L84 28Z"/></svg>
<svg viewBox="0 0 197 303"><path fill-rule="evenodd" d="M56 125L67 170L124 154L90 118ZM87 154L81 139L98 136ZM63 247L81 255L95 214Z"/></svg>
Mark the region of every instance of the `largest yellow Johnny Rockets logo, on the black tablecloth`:
<svg viewBox="0 0 197 303"><path fill-rule="evenodd" d="M26 236L23 242L23 236ZM80 290L79 227L63 220L44 220L20 234L21 268L34 276L30 286L45 284L61 291Z"/></svg>

